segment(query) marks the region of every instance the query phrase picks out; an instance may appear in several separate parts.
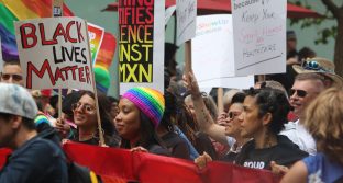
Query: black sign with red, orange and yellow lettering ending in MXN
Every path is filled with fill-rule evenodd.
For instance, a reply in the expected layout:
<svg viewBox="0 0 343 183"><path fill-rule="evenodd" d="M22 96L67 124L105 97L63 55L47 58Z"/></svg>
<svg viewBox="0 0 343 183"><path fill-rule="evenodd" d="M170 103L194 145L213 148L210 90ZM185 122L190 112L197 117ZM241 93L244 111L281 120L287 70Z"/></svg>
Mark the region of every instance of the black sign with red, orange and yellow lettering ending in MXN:
<svg viewBox="0 0 343 183"><path fill-rule="evenodd" d="M165 1L119 0L120 93L133 87L164 91Z"/></svg>

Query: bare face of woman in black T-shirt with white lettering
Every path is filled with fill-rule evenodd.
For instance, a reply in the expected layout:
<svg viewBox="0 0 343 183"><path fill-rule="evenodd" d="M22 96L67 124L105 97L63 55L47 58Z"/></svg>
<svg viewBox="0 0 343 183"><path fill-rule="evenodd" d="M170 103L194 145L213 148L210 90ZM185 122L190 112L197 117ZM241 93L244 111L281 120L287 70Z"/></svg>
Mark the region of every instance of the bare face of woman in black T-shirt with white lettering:
<svg viewBox="0 0 343 183"><path fill-rule="evenodd" d="M262 117L258 117L258 106L254 96L245 98L242 116L241 136L244 138L254 138L254 136L263 129Z"/></svg>

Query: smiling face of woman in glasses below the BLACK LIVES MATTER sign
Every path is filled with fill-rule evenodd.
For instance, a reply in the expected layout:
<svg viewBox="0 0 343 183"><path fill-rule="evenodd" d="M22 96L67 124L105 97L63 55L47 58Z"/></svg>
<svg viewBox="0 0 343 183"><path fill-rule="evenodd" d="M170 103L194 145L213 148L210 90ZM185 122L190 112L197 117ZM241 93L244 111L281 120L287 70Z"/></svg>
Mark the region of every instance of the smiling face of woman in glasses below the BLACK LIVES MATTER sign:
<svg viewBox="0 0 343 183"><path fill-rule="evenodd" d="M78 127L97 126L96 101L88 94L84 94L78 103L73 104L74 122Z"/></svg>

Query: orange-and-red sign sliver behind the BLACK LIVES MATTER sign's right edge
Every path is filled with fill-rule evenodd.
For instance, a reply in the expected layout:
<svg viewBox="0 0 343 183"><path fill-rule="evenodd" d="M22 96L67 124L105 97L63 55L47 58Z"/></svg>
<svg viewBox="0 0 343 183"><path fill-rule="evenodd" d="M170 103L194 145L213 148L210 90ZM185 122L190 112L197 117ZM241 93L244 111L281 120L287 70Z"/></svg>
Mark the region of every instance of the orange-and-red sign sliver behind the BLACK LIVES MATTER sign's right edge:
<svg viewBox="0 0 343 183"><path fill-rule="evenodd" d="M102 43L104 30L98 25L87 23L88 35L89 35L89 47L91 54L91 62L95 65L100 45Z"/></svg>

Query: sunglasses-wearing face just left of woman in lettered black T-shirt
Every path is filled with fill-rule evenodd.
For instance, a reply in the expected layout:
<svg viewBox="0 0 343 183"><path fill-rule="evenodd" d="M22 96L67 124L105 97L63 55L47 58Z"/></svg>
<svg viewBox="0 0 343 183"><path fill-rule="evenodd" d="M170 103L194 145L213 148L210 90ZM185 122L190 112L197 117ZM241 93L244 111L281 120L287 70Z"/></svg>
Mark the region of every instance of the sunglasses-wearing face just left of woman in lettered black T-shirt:
<svg viewBox="0 0 343 183"><path fill-rule="evenodd" d="M243 112L243 105L234 103L230 106L228 117L225 118L225 135L231 137L241 136L241 123L240 115Z"/></svg>

